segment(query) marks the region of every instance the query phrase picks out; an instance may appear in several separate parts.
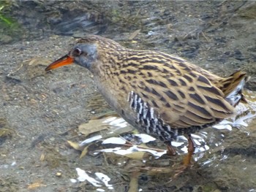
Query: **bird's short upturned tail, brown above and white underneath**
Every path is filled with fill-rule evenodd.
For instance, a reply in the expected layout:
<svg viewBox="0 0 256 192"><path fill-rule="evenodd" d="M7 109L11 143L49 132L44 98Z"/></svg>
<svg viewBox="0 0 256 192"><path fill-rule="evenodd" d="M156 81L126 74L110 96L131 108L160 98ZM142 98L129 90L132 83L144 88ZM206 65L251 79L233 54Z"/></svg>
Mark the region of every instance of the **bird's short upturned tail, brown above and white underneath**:
<svg viewBox="0 0 256 192"><path fill-rule="evenodd" d="M232 105L236 106L239 101L247 103L243 95L243 88L245 82L249 80L249 77L246 76L245 72L234 72L229 77L222 79L220 88L225 94L225 99Z"/></svg>

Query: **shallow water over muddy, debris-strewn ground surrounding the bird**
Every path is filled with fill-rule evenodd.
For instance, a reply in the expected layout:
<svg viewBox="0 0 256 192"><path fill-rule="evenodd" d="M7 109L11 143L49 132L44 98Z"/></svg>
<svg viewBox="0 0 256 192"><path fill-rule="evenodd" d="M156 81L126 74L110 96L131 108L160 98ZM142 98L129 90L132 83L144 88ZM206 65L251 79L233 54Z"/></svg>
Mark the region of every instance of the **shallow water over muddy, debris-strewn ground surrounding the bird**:
<svg viewBox="0 0 256 192"><path fill-rule="evenodd" d="M236 120L195 134L192 167L178 172L186 139L173 143L179 154L168 157L159 141L147 143L154 152L137 151L138 133L124 133L130 131L125 123L85 137L81 124L111 112L91 74L79 66L44 71L67 53L74 37L101 34L126 47L180 55L219 75L244 69L252 76L247 88L255 90L251 10L253 1L17 2L12 16L26 30L22 40L0 47L0 191L256 191L255 92L246 93L249 104L238 106ZM119 135L131 143L102 145ZM95 136L102 138L78 150L68 143ZM115 153L102 152L116 147ZM116 154L120 149L133 153Z"/></svg>

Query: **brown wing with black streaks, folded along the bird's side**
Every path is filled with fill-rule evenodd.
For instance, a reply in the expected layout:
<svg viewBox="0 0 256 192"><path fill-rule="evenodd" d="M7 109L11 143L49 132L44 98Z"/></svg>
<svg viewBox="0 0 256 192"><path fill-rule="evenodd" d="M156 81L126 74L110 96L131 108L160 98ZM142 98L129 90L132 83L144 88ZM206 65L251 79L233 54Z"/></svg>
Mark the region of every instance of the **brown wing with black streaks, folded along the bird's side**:
<svg viewBox="0 0 256 192"><path fill-rule="evenodd" d="M234 109L224 93L193 69L194 65L181 61L148 61L141 65L133 77L132 91L157 118L175 128L203 126L232 115Z"/></svg>

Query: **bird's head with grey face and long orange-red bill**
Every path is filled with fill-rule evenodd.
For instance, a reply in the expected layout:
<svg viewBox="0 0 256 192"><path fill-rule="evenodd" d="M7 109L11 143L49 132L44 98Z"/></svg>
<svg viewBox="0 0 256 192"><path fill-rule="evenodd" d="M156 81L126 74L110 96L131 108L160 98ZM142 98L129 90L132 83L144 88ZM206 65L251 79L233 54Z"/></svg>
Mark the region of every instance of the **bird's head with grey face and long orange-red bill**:
<svg viewBox="0 0 256 192"><path fill-rule="evenodd" d="M126 52L126 48L113 40L89 35L78 39L67 55L54 61L45 71L56 69L59 66L78 64L86 67L93 74L104 72L109 66L115 65L116 55ZM113 57L113 58L111 58Z"/></svg>

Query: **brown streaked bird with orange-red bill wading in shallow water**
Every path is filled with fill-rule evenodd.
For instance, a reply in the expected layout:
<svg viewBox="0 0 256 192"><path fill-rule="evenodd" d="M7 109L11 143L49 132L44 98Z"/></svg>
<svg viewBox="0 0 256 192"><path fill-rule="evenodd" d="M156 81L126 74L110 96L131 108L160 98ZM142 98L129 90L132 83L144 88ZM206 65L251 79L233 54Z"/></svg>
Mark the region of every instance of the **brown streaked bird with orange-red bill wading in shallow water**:
<svg viewBox="0 0 256 192"><path fill-rule="evenodd" d="M246 103L246 72L219 77L176 55L132 50L97 35L78 39L45 71L68 64L89 69L110 107L138 131L165 142L170 153L171 142L187 136L185 166L195 152L191 134L232 117L236 105Z"/></svg>

